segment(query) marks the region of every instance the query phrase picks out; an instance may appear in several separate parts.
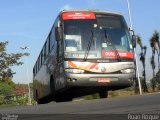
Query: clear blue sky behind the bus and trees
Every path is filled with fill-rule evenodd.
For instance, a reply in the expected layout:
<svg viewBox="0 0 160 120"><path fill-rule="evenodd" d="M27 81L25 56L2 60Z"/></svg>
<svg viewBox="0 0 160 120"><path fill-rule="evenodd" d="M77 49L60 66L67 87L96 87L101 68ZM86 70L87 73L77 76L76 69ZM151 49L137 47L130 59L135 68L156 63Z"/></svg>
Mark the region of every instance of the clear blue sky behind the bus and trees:
<svg viewBox="0 0 160 120"><path fill-rule="evenodd" d="M9 41L7 52L24 52L21 46L28 46L30 56L21 58L22 66L13 67L15 83L32 82L32 69L39 52L48 36L52 24L63 9L100 9L120 12L128 25L127 0L0 0L0 41ZM160 0L129 0L132 24L135 33L140 35L148 47L146 56L147 80L152 77L149 63L151 49L149 39L154 30L160 32ZM139 54L137 46L137 55ZM139 58L137 58L139 61ZM26 67L27 66L27 67ZM140 74L142 64L138 62Z"/></svg>

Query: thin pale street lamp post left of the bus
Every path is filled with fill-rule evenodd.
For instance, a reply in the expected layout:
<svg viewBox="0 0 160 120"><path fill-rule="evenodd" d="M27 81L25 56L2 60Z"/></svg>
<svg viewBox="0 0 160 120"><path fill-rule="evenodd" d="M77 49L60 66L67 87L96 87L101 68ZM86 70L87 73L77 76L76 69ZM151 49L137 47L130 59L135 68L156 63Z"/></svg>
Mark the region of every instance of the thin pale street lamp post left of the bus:
<svg viewBox="0 0 160 120"><path fill-rule="evenodd" d="M22 50L26 51L29 49L28 46L23 46L20 47ZM31 102L31 90L30 90L30 85L29 85L29 73L28 73L28 62L27 62L27 57L25 58L25 64L26 64L26 71L27 71L27 80L28 80L28 105L32 105Z"/></svg>

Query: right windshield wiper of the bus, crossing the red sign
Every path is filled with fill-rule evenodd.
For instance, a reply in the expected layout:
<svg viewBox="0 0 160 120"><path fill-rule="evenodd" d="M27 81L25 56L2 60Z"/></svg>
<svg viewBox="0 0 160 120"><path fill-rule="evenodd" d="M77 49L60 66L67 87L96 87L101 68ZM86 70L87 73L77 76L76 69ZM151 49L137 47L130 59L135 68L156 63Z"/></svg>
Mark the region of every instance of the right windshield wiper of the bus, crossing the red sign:
<svg viewBox="0 0 160 120"><path fill-rule="evenodd" d="M104 31L105 31L105 30L104 30ZM109 38L108 35L106 34L106 31L105 31L105 42L106 42L106 44L107 44L107 42L109 42L109 43L111 44L112 49L114 50L114 52L115 52L116 55L117 55L118 61L121 61L121 57L120 57L120 55L119 55L119 53L118 53L118 51L117 51L117 49L116 49L114 43L112 42L112 39Z"/></svg>

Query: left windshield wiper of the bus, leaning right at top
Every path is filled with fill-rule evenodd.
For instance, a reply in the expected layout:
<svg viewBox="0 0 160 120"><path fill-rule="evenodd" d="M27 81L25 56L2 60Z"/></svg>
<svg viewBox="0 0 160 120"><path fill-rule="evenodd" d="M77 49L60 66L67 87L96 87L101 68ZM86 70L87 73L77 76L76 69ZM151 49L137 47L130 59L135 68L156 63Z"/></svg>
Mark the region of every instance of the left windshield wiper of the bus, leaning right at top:
<svg viewBox="0 0 160 120"><path fill-rule="evenodd" d="M91 49L92 42L93 42L93 30L91 31L91 38L88 42L87 50L85 51L85 55L84 55L84 59L83 59L84 61L86 61L87 58L88 58L88 54L89 54L89 51Z"/></svg>

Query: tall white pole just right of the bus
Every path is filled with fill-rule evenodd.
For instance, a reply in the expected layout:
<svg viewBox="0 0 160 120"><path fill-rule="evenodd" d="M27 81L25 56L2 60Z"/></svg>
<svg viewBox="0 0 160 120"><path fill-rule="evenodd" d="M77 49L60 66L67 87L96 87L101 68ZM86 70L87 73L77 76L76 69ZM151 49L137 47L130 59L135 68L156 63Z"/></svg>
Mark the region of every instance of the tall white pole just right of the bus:
<svg viewBox="0 0 160 120"><path fill-rule="evenodd" d="M129 21L130 21L130 30L132 31L132 35L134 35L129 0L127 0L127 6L128 6L128 15L129 15ZM140 81L140 78L139 78L139 69L138 69L138 64L137 64L136 48L134 48L133 50L134 50L134 57L135 57L135 62L136 62L135 63L135 65L136 65L136 77L138 78L139 93L140 93L140 95L142 95L141 81Z"/></svg>

